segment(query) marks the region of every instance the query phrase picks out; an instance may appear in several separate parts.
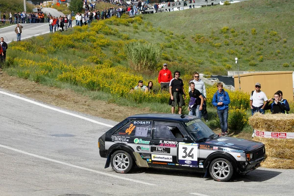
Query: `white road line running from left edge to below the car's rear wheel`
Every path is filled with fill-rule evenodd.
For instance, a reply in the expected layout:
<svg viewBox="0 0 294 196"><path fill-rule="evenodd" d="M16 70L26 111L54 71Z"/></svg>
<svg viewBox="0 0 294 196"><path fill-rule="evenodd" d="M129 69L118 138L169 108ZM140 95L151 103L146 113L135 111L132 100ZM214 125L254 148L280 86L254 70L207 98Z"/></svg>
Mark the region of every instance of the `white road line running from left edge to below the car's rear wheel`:
<svg viewBox="0 0 294 196"><path fill-rule="evenodd" d="M70 163L65 163L65 162L62 162L62 161L57 161L57 160L50 159L50 158L47 158L47 157L44 157L44 156L39 156L39 155L36 155L36 154L25 152L23 150L19 150L19 149L13 148L13 147L7 147L7 146L4 146L4 145L0 145L0 147L6 148L6 149L9 149L9 150L13 150L13 151L16 151L16 152L20 152L20 153L23 153L23 154L26 154L26 155L29 155L29 156L33 156L33 157L37 157L37 158L40 158L40 159L44 159L44 160L47 160L47 161L50 161L50 162L59 163L59 164L70 166L70 167L77 168L77 169L80 169L80 170L85 170L85 171L88 171L88 172L94 172L94 173L98 173L98 174L101 174L101 175L107 175L109 177L119 178L119 179L122 179L122 180L128 180L128 181L131 181L131 182L136 182L136 183L150 185L150 186L154 186L155 185L155 184L151 184L151 183L148 183L148 182L143 182L143 181L139 181L139 180L125 178L125 177L121 177L121 176L118 176L118 175L113 175L113 174L105 173L105 172L99 172L99 171L96 171L96 170L92 170L92 169L88 169L88 168L76 166L76 165L73 165L73 164L70 164Z"/></svg>

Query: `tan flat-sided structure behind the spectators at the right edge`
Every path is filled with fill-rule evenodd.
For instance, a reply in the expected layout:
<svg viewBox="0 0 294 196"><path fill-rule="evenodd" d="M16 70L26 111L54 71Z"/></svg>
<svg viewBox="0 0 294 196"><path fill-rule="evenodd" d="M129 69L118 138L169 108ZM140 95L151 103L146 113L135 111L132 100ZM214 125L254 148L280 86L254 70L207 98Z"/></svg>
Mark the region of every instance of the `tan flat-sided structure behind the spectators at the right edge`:
<svg viewBox="0 0 294 196"><path fill-rule="evenodd" d="M283 92L283 98L293 100L293 72L259 72L240 74L241 91L251 93L255 90L255 84L261 84L261 90L268 98L278 90ZM239 89L238 75L234 75L235 89Z"/></svg>

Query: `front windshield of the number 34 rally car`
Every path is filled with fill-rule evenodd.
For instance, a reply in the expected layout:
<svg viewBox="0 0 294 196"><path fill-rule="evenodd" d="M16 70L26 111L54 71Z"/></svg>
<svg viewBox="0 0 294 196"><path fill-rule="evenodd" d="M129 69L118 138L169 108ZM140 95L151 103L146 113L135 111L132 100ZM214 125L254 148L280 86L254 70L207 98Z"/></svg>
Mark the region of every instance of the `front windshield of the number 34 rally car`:
<svg viewBox="0 0 294 196"><path fill-rule="evenodd" d="M185 123L187 131L194 137L196 141L213 139L217 135L200 119L193 119Z"/></svg>

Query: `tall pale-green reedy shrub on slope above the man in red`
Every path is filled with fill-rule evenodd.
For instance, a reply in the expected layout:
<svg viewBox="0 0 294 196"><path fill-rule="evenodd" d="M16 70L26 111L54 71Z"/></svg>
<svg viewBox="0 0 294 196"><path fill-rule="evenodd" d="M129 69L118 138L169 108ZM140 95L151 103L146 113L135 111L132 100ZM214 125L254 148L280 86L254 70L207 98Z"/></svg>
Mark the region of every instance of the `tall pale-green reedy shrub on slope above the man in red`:
<svg viewBox="0 0 294 196"><path fill-rule="evenodd" d="M160 48L152 44L131 42L124 47L129 66L134 72L142 70L156 70L156 63L160 59Z"/></svg>

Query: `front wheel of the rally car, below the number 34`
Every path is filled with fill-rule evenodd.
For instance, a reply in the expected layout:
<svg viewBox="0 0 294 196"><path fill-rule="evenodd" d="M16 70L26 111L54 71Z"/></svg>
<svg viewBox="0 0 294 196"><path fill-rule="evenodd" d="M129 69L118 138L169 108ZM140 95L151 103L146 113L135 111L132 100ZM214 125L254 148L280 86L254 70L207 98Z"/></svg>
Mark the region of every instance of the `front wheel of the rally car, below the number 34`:
<svg viewBox="0 0 294 196"><path fill-rule="evenodd" d="M209 173L214 180L226 182L231 179L234 173L234 168L228 160L217 158L211 162Z"/></svg>

